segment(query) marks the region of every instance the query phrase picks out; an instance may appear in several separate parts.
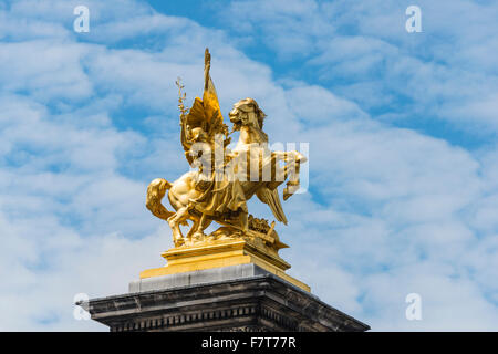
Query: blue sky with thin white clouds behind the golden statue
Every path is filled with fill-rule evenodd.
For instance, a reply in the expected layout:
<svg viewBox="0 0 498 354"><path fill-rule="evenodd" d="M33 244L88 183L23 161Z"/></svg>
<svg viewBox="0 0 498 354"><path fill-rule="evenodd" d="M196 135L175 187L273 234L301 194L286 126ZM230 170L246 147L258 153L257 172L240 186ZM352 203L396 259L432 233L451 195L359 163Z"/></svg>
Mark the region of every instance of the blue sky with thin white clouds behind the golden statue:
<svg viewBox="0 0 498 354"><path fill-rule="evenodd" d="M1 0L0 330L105 331L74 295L164 264L145 189L188 168L175 80L200 95L209 46L226 116L253 97L271 142L310 143L277 228L291 275L376 331L497 331L497 18L491 0Z"/></svg>

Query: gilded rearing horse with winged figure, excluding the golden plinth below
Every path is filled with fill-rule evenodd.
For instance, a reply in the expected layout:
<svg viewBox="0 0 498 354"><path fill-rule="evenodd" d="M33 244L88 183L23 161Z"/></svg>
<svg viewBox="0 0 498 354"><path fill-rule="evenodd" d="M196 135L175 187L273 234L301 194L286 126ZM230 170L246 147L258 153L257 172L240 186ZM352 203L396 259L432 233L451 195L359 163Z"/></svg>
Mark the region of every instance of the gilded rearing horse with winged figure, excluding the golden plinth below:
<svg viewBox="0 0 498 354"><path fill-rule="evenodd" d="M269 150L268 135L262 131L266 115L252 98L240 100L229 113L234 124L231 133L240 134L236 147L228 149L228 127L222 123L209 69L210 55L206 49L203 100L196 97L190 110L184 108L185 95L181 96L183 86L177 82L181 144L188 163L197 170L184 174L174 183L156 178L147 187L146 207L168 222L175 247L201 240L212 221L247 232L247 200L255 195L270 207L278 221L287 225L277 188L287 180L283 199L292 196L299 189L300 164L307 160L297 150ZM221 150L221 163L209 166L206 163L216 160L216 149ZM175 211L162 204L166 192ZM188 225L187 220L193 226L184 237L179 226Z"/></svg>

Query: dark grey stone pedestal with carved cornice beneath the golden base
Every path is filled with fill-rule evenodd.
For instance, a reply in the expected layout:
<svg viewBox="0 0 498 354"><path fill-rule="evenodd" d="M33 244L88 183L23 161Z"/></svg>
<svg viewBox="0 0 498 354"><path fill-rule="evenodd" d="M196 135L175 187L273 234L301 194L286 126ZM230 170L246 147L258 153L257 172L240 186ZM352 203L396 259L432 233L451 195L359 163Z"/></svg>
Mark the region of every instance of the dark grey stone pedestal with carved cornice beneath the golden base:
<svg viewBox="0 0 498 354"><path fill-rule="evenodd" d="M143 277L127 294L82 305L112 332L370 329L253 262Z"/></svg>

